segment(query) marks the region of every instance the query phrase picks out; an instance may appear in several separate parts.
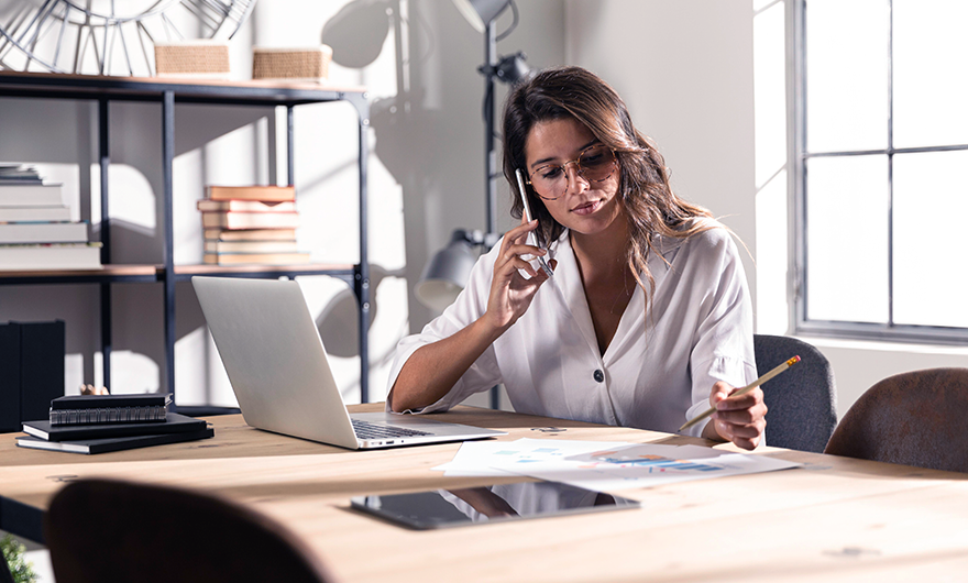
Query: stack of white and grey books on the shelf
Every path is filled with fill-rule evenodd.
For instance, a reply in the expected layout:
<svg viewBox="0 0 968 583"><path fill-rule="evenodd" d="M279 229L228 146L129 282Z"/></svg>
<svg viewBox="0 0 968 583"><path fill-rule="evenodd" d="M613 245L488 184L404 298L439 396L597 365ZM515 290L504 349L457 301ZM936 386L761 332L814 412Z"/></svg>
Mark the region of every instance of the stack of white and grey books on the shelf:
<svg viewBox="0 0 968 583"><path fill-rule="evenodd" d="M59 184L37 170L0 164L0 270L98 270L101 244L88 224L70 220Z"/></svg>

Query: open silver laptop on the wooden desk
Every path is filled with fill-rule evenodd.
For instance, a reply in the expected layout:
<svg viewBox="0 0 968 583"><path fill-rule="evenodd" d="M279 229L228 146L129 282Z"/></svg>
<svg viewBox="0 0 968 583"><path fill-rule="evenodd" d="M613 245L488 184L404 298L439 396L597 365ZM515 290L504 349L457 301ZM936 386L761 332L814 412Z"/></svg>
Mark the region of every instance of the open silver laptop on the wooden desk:
<svg viewBox="0 0 968 583"><path fill-rule="evenodd" d="M196 276L191 284L252 427L354 450L507 435L413 415L350 415L297 282Z"/></svg>

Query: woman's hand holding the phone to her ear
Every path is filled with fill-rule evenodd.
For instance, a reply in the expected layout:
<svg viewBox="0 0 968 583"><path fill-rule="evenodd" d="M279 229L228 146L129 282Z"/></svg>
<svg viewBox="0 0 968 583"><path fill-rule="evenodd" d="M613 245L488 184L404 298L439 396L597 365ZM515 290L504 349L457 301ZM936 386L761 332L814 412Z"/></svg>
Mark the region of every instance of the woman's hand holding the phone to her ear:
<svg viewBox="0 0 968 583"><path fill-rule="evenodd" d="M521 222L504 235L501 243L501 254L494 263L494 278L491 283L491 295L487 298L487 311L485 319L495 330L504 332L518 318L524 316L531 299L538 293L541 284L548 280L548 274L543 270L535 270L521 255L543 256L548 252L535 245L527 244L528 233L538 228L538 221ZM557 262L551 262L553 270ZM526 279L518 273L525 271L530 275Z"/></svg>

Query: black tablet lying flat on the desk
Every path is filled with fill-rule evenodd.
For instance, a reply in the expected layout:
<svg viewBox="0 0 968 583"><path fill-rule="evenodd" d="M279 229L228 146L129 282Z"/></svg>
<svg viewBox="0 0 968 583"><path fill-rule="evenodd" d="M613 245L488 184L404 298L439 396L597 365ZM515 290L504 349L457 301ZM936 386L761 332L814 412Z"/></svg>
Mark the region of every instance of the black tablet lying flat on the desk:
<svg viewBox="0 0 968 583"><path fill-rule="evenodd" d="M351 506L408 528L427 530L526 518L639 508L638 501L559 482L356 496Z"/></svg>

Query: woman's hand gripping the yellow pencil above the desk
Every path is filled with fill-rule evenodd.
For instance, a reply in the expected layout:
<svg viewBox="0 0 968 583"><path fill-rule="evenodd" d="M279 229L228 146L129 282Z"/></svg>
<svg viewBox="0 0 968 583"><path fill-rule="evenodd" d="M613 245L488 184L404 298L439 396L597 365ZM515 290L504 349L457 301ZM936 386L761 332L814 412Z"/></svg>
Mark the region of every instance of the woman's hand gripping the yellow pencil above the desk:
<svg viewBox="0 0 968 583"><path fill-rule="evenodd" d="M751 450L759 444L767 427L763 392L756 387L746 395L730 397L735 392L736 387L723 381L713 385L710 404L716 408L716 413L706 425L703 437L715 439L718 435L719 439Z"/></svg>

